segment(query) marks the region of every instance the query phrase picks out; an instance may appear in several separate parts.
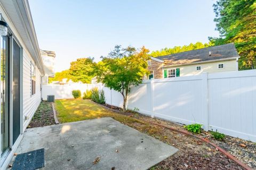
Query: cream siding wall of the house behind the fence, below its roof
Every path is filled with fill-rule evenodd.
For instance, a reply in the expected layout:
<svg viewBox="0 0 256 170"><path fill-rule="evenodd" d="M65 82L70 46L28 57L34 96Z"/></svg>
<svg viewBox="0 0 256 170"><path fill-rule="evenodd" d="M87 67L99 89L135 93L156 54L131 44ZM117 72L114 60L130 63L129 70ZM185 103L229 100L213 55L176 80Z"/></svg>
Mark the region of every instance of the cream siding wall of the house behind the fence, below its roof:
<svg viewBox="0 0 256 170"><path fill-rule="evenodd" d="M224 64L224 68L219 69L218 65ZM197 66L201 66L201 70L196 70ZM180 69L180 76L189 76L189 75L198 75L203 72L208 73L217 73L217 72L229 72L229 71L238 71L236 60L230 61L221 61L221 62L212 62L204 64L194 64L194 65L185 65L185 66L170 66L165 69Z"/></svg>

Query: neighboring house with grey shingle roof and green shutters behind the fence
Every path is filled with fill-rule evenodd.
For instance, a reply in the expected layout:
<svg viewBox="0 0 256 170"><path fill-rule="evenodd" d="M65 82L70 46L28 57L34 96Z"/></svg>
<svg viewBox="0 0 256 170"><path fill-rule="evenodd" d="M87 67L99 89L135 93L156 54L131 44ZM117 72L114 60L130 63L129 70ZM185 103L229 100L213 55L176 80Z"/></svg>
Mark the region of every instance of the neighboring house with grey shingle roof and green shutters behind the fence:
<svg viewBox="0 0 256 170"><path fill-rule="evenodd" d="M197 75L203 72L238 71L238 58L233 43L151 57L148 61L148 79Z"/></svg>

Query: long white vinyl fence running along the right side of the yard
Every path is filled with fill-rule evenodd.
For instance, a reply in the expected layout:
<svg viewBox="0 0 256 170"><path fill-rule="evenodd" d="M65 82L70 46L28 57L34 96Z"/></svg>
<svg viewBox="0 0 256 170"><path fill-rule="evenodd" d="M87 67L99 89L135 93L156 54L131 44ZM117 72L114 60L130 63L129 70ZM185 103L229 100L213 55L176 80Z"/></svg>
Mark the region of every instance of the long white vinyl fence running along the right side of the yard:
<svg viewBox="0 0 256 170"><path fill-rule="evenodd" d="M106 87L106 103L123 106ZM201 123L233 137L256 141L256 71L201 74L143 81L132 87L127 108L183 124Z"/></svg>

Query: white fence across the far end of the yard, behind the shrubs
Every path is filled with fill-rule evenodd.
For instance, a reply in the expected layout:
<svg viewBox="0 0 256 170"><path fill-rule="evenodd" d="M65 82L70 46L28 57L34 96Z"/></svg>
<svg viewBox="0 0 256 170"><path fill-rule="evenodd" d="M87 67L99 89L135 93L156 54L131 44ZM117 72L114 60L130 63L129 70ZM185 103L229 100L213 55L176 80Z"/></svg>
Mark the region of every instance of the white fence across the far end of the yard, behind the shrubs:
<svg viewBox="0 0 256 170"><path fill-rule="evenodd" d="M83 83L71 83L71 84L49 84L42 86L42 98L47 100L47 95L54 95L55 99L70 99L74 98L72 95L73 90L80 90L83 93L87 89L93 87L101 88L101 84L83 84Z"/></svg>

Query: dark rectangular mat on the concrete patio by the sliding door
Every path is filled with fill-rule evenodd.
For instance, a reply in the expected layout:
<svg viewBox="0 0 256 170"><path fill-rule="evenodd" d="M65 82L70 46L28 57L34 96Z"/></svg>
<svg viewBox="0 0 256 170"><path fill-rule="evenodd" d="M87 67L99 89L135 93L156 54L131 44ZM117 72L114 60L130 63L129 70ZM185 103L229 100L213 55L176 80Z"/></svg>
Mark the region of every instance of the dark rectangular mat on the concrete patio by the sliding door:
<svg viewBox="0 0 256 170"><path fill-rule="evenodd" d="M42 167L44 167L44 149L38 149L17 155L12 170L34 170Z"/></svg>

